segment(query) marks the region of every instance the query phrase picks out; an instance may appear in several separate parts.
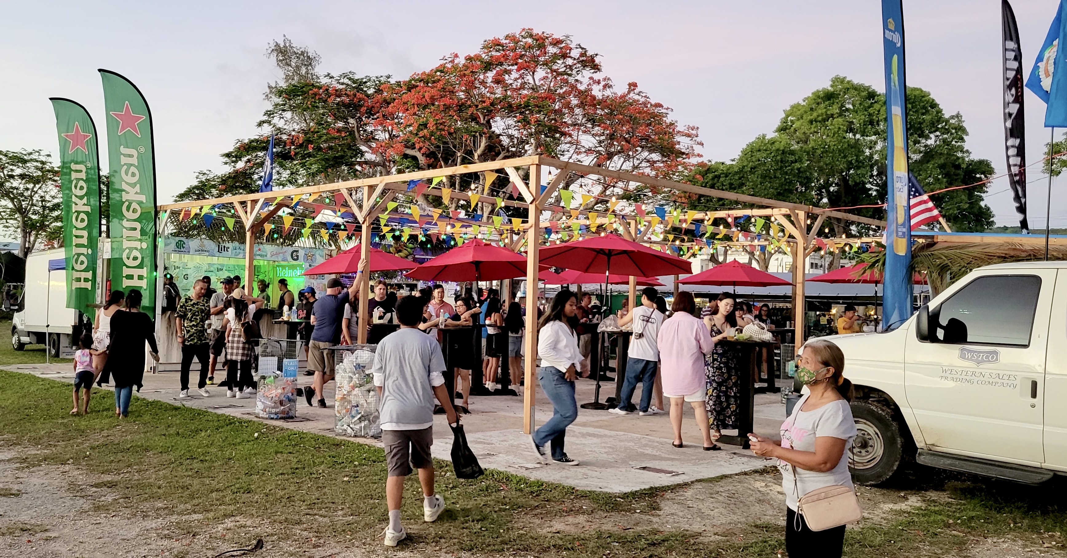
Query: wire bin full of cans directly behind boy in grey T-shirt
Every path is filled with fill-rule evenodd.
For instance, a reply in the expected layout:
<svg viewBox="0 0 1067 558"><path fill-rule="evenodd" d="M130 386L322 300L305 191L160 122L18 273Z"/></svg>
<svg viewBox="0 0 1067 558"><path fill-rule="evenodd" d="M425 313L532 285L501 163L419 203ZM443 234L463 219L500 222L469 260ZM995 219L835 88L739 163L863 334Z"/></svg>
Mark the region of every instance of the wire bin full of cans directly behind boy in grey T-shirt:
<svg viewBox="0 0 1067 558"><path fill-rule="evenodd" d="M344 345L334 351L334 430L343 436L382 437L378 389L370 367L377 345Z"/></svg>

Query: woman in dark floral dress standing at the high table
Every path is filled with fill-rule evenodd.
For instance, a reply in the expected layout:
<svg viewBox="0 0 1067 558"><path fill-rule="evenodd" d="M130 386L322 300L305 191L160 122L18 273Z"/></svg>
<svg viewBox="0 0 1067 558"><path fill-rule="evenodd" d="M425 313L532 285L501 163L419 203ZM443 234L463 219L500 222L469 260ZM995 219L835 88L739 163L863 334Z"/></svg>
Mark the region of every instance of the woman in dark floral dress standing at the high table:
<svg viewBox="0 0 1067 558"><path fill-rule="evenodd" d="M721 342L733 337L737 328L736 300L723 292L718 300L708 304L712 315L704 318L704 325L711 332L715 349L707 357L707 420L712 427L712 440L722 435L722 429L737 428L737 410L740 403L740 382L737 371L737 351L730 344ZM716 448L718 445L715 446Z"/></svg>

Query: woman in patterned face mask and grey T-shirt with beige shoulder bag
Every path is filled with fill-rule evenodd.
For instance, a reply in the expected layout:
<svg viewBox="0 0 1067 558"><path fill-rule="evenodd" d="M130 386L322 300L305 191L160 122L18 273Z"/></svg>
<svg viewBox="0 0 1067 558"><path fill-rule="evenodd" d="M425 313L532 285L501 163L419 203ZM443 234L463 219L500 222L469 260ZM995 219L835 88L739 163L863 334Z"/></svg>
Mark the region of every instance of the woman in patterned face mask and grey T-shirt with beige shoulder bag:
<svg viewBox="0 0 1067 558"><path fill-rule="evenodd" d="M848 402L853 383L842 376L845 355L831 341L815 339L801 349L796 377L809 394L801 397L793 414L782 424L781 442L754 437L751 448L757 456L778 458L785 491L785 551L790 556L840 557L845 542L845 526L822 531L808 528L797 512L800 497L825 487L853 487L845 452L856 437Z"/></svg>

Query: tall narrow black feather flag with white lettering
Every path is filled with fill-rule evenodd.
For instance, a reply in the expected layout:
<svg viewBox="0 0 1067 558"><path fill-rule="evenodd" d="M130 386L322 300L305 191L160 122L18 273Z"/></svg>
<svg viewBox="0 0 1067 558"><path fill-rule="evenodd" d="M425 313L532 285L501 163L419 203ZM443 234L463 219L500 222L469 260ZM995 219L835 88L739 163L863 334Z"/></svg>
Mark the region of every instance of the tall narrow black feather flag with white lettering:
<svg viewBox="0 0 1067 558"><path fill-rule="evenodd" d="M1004 38L1004 147L1007 154L1007 179L1019 213L1019 226L1030 233L1026 222L1026 125L1022 112L1022 55L1019 27L1007 0L1001 0Z"/></svg>

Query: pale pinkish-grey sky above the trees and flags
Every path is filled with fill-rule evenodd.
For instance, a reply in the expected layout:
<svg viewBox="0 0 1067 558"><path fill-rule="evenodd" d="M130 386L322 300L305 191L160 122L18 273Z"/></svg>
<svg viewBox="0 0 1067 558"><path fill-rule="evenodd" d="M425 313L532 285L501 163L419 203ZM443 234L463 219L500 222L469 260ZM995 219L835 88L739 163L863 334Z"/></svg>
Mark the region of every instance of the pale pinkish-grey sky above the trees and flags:
<svg viewBox="0 0 1067 558"><path fill-rule="evenodd" d="M1030 68L1056 0L1015 0ZM1000 0L905 0L908 84L961 112L968 147L1005 169L1001 105ZM7 2L0 21L0 148L58 150L48 97L84 105L98 127L103 98L96 68L125 75L144 93L156 131L159 202L218 155L256 133L269 81L264 57L283 34L322 57L321 69L405 77L450 52L523 27L570 34L601 54L618 83L637 81L700 127L706 159L729 160L769 133L791 103L834 75L883 90L880 3L809 2ZM1029 91L1029 162L1049 130ZM101 162L107 164L106 142ZM1031 171L1031 179L1040 173ZM1067 226L1067 178L1053 182L1052 226ZM987 203L997 224L1018 219L1004 178ZM1030 222L1045 224L1047 182L1029 185Z"/></svg>

